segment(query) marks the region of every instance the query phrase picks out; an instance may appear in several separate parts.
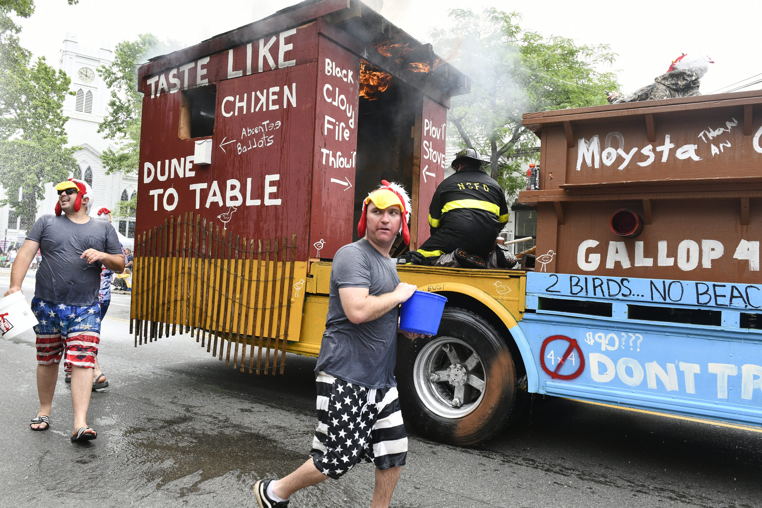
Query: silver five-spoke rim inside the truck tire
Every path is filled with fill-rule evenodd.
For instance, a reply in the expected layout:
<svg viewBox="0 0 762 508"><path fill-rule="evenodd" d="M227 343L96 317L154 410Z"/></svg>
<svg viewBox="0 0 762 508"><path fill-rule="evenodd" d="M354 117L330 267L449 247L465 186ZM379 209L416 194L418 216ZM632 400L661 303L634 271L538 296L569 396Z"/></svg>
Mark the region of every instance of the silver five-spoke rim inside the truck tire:
<svg viewBox="0 0 762 508"><path fill-rule="evenodd" d="M421 348L413 366L415 391L437 416L463 418L479 407L487 375L481 357L455 337L437 337Z"/></svg>

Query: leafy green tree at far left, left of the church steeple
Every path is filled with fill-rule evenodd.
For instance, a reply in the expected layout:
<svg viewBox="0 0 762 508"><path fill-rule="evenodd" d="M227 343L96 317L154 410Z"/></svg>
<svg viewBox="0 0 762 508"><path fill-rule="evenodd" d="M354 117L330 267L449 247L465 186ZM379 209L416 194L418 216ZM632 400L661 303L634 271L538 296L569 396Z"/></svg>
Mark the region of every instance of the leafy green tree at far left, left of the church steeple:
<svg viewBox="0 0 762 508"><path fill-rule="evenodd" d="M6 192L0 204L10 204L28 229L45 185L66 180L77 168L74 149L64 147L62 105L71 79L43 57L31 63L31 53L19 43L21 28L10 14L28 17L34 3L0 2L0 181Z"/></svg>

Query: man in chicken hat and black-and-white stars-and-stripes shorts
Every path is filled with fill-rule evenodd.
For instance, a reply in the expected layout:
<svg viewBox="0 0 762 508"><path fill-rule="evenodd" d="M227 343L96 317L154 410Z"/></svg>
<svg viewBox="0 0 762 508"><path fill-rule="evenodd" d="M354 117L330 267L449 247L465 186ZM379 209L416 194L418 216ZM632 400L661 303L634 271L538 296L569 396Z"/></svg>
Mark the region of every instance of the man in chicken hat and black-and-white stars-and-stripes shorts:
<svg viewBox="0 0 762 508"><path fill-rule="evenodd" d="M409 243L409 219L408 193L382 181L363 201L360 240L335 254L315 366L319 424L312 458L286 478L258 481L260 508L288 506L296 490L341 478L361 459L376 465L372 506L389 506L408 451L394 378L398 307L416 289L399 281L389 250L400 233Z"/></svg>

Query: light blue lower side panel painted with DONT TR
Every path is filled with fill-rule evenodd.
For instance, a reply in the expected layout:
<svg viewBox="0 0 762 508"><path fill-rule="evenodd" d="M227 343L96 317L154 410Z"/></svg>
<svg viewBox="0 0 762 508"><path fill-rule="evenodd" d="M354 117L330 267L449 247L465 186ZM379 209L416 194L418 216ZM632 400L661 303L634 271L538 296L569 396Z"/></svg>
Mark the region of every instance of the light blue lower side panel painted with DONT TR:
<svg viewBox="0 0 762 508"><path fill-rule="evenodd" d="M540 393L762 425L760 331L550 312L519 326Z"/></svg>

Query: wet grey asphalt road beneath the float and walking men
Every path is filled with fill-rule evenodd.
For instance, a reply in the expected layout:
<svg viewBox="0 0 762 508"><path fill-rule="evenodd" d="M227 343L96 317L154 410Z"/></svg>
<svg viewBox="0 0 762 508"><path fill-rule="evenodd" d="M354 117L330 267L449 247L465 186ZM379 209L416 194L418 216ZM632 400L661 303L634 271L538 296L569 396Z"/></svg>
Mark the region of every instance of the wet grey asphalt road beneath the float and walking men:
<svg viewBox="0 0 762 508"><path fill-rule="evenodd" d="M0 270L0 291L8 270ZM34 279L24 283L27 300ZM98 439L69 442L72 406L59 373L51 430L37 412L34 335L0 340L5 360L0 506L256 506L259 478L306 459L315 428L315 360L287 356L286 375L238 372L187 335L133 347L129 297L115 295L93 394ZM762 506L762 433L536 398L500 436L474 448L411 433L392 506ZM360 465L293 496L290 506L368 506Z"/></svg>

